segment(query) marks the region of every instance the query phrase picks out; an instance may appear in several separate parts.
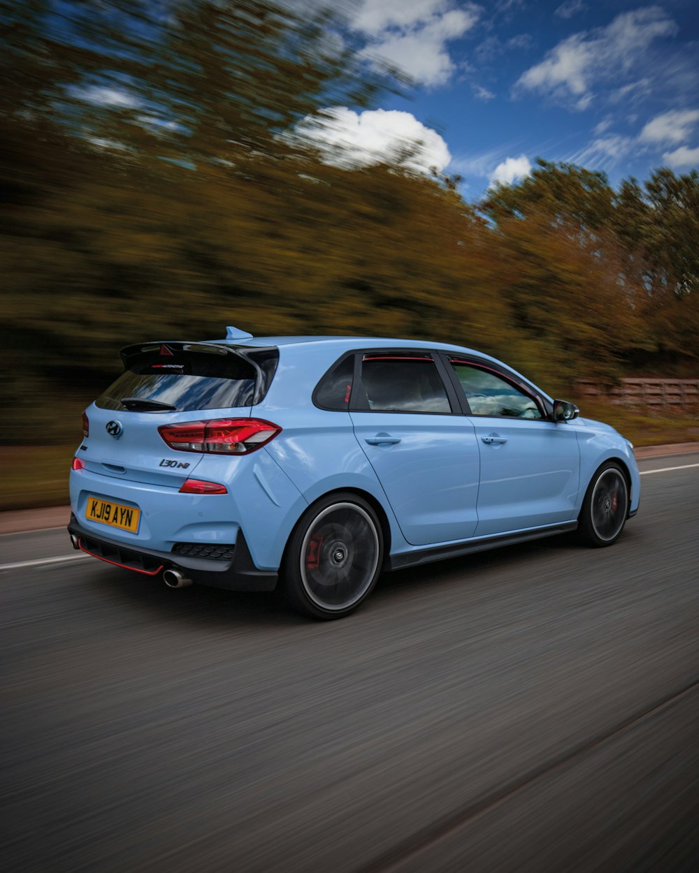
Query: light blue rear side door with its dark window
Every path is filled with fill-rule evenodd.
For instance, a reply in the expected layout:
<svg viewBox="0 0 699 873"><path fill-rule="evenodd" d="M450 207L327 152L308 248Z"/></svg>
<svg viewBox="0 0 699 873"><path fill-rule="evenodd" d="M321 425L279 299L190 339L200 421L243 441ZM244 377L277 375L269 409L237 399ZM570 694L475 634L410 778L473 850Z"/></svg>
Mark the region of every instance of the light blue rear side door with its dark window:
<svg viewBox="0 0 699 873"><path fill-rule="evenodd" d="M429 352L360 354L350 416L405 540L415 546L473 535L479 453L474 425Z"/></svg>

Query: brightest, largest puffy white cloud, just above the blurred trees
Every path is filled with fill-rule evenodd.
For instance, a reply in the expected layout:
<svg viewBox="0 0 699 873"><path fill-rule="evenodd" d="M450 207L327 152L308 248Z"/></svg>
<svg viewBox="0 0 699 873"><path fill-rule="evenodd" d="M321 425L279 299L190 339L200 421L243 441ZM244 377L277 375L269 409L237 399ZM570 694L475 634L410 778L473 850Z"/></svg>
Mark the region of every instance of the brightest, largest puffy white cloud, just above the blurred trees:
<svg viewBox="0 0 699 873"><path fill-rule="evenodd" d="M339 167L368 167L389 163L412 172L443 170L451 160L446 142L414 115L397 110L352 112L332 107L305 118L295 136L310 141L322 160Z"/></svg>

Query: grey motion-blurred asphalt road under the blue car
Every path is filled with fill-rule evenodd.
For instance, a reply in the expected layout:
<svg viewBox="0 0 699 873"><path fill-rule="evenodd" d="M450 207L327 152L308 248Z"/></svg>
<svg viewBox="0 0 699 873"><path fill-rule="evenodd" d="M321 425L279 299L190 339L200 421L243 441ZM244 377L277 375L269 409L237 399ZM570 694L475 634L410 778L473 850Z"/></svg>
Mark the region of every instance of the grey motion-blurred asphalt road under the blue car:
<svg viewBox="0 0 699 873"><path fill-rule="evenodd" d="M612 548L387 575L340 622L0 570L3 870L699 870L699 454L664 467Z"/></svg>

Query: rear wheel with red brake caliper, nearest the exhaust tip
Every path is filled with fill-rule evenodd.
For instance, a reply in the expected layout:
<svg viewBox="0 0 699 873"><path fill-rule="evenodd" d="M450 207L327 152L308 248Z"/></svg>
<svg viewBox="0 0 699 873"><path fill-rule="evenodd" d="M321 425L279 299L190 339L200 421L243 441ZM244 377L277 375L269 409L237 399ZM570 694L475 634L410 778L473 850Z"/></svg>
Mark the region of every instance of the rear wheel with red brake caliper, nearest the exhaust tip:
<svg viewBox="0 0 699 873"><path fill-rule="evenodd" d="M356 494L329 494L294 528L282 563L284 595L303 615L350 615L376 585L384 538L376 512Z"/></svg>

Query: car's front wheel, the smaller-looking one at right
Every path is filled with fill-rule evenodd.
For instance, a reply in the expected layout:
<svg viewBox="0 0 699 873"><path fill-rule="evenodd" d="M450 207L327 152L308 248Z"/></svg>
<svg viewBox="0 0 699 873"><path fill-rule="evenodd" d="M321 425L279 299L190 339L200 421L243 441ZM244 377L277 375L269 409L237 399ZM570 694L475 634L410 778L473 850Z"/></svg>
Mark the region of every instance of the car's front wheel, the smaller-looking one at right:
<svg viewBox="0 0 699 873"><path fill-rule="evenodd" d="M587 546L615 543L628 515L628 482L619 464L608 461L592 477L578 516L578 535Z"/></svg>

